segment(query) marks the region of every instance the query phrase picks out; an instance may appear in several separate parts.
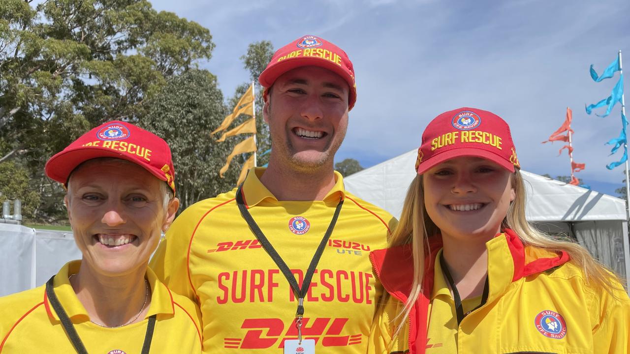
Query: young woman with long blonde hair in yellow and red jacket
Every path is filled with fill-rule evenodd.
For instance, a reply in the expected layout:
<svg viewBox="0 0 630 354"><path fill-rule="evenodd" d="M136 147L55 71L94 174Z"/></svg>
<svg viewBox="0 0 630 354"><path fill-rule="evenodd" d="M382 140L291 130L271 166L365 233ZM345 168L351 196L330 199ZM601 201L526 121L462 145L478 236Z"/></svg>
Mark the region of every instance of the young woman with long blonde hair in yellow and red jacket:
<svg viewBox="0 0 630 354"><path fill-rule="evenodd" d="M422 135L388 249L369 353L627 353L630 300L571 241L525 220L510 128L459 108Z"/></svg>

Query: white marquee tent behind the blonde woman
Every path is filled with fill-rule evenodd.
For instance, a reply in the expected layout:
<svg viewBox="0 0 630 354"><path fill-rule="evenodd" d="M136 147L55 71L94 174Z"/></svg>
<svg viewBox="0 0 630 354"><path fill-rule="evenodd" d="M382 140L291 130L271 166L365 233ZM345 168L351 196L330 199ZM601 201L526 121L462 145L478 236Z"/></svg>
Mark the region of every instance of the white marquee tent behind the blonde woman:
<svg viewBox="0 0 630 354"><path fill-rule="evenodd" d="M407 188L416 175L415 161L416 150L394 157L348 176L343 180L345 188L399 217ZM617 274L630 275L624 200L521 172L527 188L527 220L550 234L573 237Z"/></svg>

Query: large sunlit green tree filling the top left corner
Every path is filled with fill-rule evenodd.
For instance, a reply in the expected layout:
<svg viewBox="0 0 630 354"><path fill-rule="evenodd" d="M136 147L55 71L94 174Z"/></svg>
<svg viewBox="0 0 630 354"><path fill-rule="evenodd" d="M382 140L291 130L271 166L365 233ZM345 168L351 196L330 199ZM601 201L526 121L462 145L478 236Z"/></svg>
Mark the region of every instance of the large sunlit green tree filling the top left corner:
<svg viewBox="0 0 630 354"><path fill-rule="evenodd" d="M43 175L52 154L108 120L141 121L213 49L209 30L146 0L0 0L0 163L26 169L35 216L65 215Z"/></svg>

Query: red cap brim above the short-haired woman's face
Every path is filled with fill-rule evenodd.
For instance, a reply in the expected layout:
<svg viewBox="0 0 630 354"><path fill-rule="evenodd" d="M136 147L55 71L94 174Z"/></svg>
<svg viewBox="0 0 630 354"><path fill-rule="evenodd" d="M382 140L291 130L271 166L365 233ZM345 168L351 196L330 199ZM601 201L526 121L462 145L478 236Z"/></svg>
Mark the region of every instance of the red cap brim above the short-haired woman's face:
<svg viewBox="0 0 630 354"><path fill-rule="evenodd" d="M77 149L61 151L55 154L55 156L50 157L44 169L46 175L52 178L52 180L66 185L68 176L79 164L91 159L98 159L99 157L114 157L135 163L149 171L159 180L166 181L166 176L164 176L163 171L144 163L142 157L135 158L134 156L135 155L122 154L112 149L106 149L105 147L78 147Z"/></svg>

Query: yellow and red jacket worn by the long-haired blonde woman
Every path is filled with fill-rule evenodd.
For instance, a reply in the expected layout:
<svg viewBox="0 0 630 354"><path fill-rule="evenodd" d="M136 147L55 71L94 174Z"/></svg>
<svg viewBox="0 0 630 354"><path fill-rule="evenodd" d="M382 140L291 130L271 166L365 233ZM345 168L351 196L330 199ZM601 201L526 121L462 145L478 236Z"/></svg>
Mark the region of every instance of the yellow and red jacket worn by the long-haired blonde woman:
<svg viewBox="0 0 630 354"><path fill-rule="evenodd" d="M431 353L427 316L441 237L431 237L429 246L423 292L395 338L398 314L413 281L411 248L370 253L375 273L390 295L372 325L370 354ZM629 352L630 299L621 285L612 290L614 296L587 285L583 271L569 262L567 253L525 246L512 230L498 234L486 248L488 300L457 328L458 353ZM547 317L558 322L558 333L541 326Z"/></svg>

